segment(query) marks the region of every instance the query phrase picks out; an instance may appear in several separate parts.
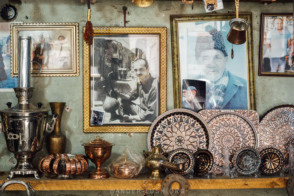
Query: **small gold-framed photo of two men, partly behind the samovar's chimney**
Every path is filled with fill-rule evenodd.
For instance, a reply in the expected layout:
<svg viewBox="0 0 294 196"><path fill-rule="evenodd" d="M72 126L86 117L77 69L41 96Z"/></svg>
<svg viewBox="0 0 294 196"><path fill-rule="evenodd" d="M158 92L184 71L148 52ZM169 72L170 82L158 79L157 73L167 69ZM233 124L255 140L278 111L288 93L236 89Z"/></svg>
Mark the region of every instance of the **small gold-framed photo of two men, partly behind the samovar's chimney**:
<svg viewBox="0 0 294 196"><path fill-rule="evenodd" d="M18 76L18 37L32 38L32 73L37 76L79 76L78 23L13 23L11 76Z"/></svg>

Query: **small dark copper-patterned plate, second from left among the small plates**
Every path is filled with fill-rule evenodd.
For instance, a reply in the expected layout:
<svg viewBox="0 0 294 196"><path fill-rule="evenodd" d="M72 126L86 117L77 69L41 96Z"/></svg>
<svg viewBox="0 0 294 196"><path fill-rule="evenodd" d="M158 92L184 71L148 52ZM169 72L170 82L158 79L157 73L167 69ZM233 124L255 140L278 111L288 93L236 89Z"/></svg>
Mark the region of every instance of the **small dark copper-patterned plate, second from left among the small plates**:
<svg viewBox="0 0 294 196"><path fill-rule="evenodd" d="M208 150L197 150L193 155L195 159L194 175L204 176L213 166L213 155Z"/></svg>

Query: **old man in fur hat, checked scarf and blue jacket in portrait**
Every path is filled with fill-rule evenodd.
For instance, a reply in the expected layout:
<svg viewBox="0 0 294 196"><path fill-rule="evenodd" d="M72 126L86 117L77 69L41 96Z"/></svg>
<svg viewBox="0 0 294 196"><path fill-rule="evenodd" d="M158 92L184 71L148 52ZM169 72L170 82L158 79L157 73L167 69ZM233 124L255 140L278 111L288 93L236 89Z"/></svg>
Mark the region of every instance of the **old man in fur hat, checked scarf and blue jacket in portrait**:
<svg viewBox="0 0 294 196"><path fill-rule="evenodd" d="M195 57L206 81L206 109L248 109L247 81L227 70L228 51L217 29L197 35Z"/></svg>

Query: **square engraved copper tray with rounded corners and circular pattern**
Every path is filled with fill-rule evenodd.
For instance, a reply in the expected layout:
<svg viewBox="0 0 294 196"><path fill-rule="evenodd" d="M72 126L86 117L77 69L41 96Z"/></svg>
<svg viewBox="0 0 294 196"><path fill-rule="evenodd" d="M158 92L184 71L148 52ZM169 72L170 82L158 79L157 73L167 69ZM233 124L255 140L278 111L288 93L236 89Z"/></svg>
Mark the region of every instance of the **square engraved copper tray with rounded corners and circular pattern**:
<svg viewBox="0 0 294 196"><path fill-rule="evenodd" d="M198 114L209 126L209 148L213 170L223 166L223 150L228 146L230 167L235 152L242 147L258 148L258 113L254 110L201 110Z"/></svg>

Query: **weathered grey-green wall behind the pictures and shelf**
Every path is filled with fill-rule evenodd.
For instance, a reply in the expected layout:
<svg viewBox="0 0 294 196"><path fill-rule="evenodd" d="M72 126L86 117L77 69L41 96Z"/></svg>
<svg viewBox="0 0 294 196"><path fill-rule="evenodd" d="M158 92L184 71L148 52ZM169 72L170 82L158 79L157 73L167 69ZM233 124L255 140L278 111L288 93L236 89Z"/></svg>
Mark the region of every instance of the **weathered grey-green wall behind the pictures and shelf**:
<svg viewBox="0 0 294 196"><path fill-rule="evenodd" d="M7 1L0 1L1 5ZM114 3L116 2L116 4ZM148 8L139 8L131 3L131 0L123 4L125 0L101 0L91 6L91 21L93 26L123 26L122 7L128 8L126 19L127 26L165 26L167 27L167 109L173 108L173 81L172 81L172 60L171 60L171 27L170 15L176 14L206 14L203 3L196 1L192 5L183 4L181 1L154 1ZM118 5L123 4L123 5ZM234 10L235 3L225 3L224 8L217 13L226 13ZM84 154L82 143L87 143L100 135L116 145L113 147L109 160L116 158L127 146L138 152L147 149L147 133L83 133L83 47L82 27L86 24L87 6L82 5L79 0L66 1L34 1L23 0L22 5L17 7L18 16L15 21L25 23L49 23L49 22L78 22L79 23L79 59L80 76L78 77L35 77L33 103L44 103L44 108L50 108L49 102L66 102L71 109L64 111L62 117L62 132L67 136L66 153ZM292 104L294 102L294 85L292 77L271 77L258 76L258 53L260 39L260 14L261 13L291 13L292 4L273 3L263 6L258 2L240 2L240 12L253 13L253 40L254 40L254 64L255 64L255 85L256 104L259 115L268 109L280 104ZM28 19L26 19L26 16ZM0 22L3 20L0 19ZM238 51L235 51L238 52ZM13 106L17 103L14 93L0 93L0 108L6 108L5 103L10 101ZM13 154L6 148L4 134L0 134L0 170L8 171L13 166ZM42 150L37 153L34 164L37 165L39 158L47 154L46 138ZM11 158L12 157L12 158ZM104 166L109 163L106 162ZM15 162L16 160L14 160ZM90 163L89 170L94 168ZM77 185L78 186L78 185ZM208 185L209 186L209 185ZM264 192L266 191L266 192ZM192 195L284 195L285 190L215 190L195 191ZM243 193L243 194L242 194ZM46 193L49 194L48 192ZM60 192L51 192L49 195L60 195ZM64 195L80 195L78 193L66 192ZM81 194L84 194L81 192ZM92 193L89 193L91 195ZM94 194L94 193L93 193ZM109 192L96 192L95 195L110 195ZM45 195L40 193L40 195Z"/></svg>

